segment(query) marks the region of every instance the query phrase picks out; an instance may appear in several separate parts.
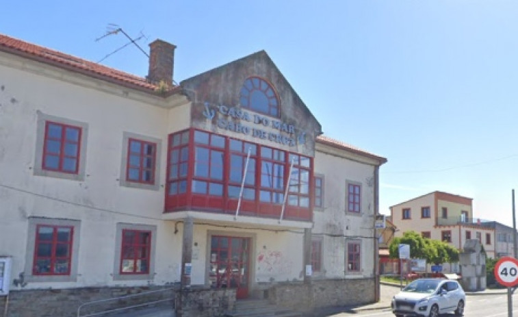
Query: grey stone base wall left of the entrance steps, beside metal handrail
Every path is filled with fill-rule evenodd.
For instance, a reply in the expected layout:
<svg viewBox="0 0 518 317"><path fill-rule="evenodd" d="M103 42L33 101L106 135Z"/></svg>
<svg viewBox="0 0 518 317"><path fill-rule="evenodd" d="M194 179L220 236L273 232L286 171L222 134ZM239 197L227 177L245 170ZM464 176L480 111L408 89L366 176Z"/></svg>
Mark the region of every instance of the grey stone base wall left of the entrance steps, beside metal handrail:
<svg viewBox="0 0 518 317"><path fill-rule="evenodd" d="M155 292L157 291L157 292ZM142 293L145 294L142 294ZM152 292L146 294L147 292ZM131 294L139 296L122 297ZM118 298L107 303L83 305L80 316L103 312L108 309L128 307L152 301L162 301L145 307L183 307L177 309L177 316L221 316L233 309L235 290L233 289L188 289L165 287L135 288L73 288L63 290L12 290L7 296L0 297L0 316L3 316L5 305L7 314L3 317L75 317L77 309L83 303L104 299ZM135 312L138 308L124 310Z"/></svg>

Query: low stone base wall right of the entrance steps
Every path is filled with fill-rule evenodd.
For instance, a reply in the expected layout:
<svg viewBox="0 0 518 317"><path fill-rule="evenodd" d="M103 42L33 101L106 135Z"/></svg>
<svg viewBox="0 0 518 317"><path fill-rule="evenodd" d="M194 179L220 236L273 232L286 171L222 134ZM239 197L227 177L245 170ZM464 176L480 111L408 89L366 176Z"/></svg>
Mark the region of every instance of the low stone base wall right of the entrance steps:
<svg viewBox="0 0 518 317"><path fill-rule="evenodd" d="M268 299L275 305L311 311L318 307L374 303L374 287L374 278L281 283L268 290Z"/></svg>

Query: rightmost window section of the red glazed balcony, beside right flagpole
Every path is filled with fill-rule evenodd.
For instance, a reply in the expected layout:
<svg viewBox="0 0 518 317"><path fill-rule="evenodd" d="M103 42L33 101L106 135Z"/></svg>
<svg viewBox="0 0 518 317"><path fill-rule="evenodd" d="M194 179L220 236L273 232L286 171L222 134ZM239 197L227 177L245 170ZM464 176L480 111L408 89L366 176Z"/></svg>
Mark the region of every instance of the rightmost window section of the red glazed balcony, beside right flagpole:
<svg viewBox="0 0 518 317"><path fill-rule="evenodd" d="M311 160L307 156L290 153L289 164L293 163L292 176L289 177L288 204L309 208L309 175Z"/></svg>

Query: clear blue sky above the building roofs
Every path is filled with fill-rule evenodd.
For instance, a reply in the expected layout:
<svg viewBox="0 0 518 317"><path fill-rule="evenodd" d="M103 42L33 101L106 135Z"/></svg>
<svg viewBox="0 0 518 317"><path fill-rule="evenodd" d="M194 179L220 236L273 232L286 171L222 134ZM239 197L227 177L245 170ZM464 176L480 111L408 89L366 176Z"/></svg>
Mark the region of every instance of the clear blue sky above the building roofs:
<svg viewBox="0 0 518 317"><path fill-rule="evenodd" d="M94 62L128 42L96 41L110 23L146 51L172 42L177 82L264 49L324 134L387 157L380 212L440 190L513 226L518 1L17 0L1 12L0 33ZM133 45L101 64L148 70Z"/></svg>

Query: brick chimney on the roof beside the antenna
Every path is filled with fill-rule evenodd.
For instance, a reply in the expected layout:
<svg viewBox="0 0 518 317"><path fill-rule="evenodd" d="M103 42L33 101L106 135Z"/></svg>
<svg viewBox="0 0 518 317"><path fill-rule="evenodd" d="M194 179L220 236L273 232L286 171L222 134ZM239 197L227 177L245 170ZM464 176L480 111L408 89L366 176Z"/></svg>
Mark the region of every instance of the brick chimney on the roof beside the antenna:
<svg viewBox="0 0 518 317"><path fill-rule="evenodd" d="M150 45L148 81L159 83L163 80L172 86L174 49L177 47L163 40L155 40Z"/></svg>

